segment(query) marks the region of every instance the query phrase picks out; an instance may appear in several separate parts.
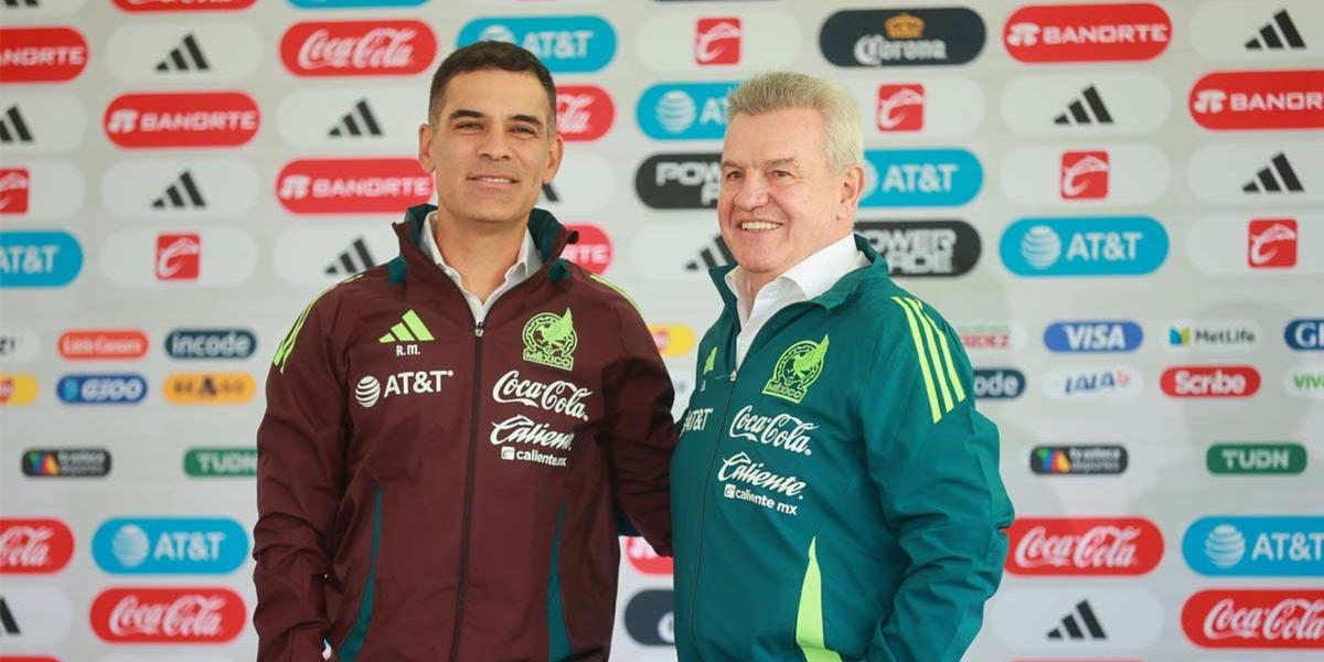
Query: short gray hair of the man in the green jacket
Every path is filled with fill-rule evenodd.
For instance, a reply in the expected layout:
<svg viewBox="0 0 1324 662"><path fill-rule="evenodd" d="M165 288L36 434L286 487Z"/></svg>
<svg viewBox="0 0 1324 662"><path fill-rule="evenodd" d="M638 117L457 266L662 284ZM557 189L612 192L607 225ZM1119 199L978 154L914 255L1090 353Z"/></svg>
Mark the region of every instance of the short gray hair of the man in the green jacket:
<svg viewBox="0 0 1324 662"><path fill-rule="evenodd" d="M834 173L861 164L865 135L859 109L841 85L793 71L768 71L745 81L727 95L727 120L779 110L813 109L824 118L824 156Z"/></svg>

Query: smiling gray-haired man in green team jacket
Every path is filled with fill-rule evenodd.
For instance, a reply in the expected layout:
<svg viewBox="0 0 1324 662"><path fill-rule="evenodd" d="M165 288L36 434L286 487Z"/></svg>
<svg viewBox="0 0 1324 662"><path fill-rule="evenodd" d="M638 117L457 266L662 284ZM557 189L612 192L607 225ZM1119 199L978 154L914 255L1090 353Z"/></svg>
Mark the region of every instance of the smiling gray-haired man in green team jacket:
<svg viewBox="0 0 1324 662"><path fill-rule="evenodd" d="M737 266L671 461L682 662L960 659L1012 503L952 327L851 233L854 101L794 73L730 98L718 222Z"/></svg>

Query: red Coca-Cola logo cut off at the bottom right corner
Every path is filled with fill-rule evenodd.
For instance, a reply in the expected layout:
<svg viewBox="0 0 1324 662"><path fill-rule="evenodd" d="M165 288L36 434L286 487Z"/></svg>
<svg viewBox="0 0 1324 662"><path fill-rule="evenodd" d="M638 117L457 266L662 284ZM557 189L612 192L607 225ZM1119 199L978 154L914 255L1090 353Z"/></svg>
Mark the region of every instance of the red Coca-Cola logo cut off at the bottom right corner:
<svg viewBox="0 0 1324 662"><path fill-rule="evenodd" d="M1181 629L1206 649L1324 650L1324 591L1201 591Z"/></svg>

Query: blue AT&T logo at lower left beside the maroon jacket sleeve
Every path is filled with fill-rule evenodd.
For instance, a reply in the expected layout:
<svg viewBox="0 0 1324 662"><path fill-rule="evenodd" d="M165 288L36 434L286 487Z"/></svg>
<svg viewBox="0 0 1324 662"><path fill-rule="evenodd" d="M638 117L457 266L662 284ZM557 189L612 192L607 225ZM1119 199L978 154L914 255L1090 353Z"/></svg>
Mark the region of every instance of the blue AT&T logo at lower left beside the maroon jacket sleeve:
<svg viewBox="0 0 1324 662"><path fill-rule="evenodd" d="M224 575L248 559L244 527L228 518L115 518L91 555L113 575Z"/></svg>

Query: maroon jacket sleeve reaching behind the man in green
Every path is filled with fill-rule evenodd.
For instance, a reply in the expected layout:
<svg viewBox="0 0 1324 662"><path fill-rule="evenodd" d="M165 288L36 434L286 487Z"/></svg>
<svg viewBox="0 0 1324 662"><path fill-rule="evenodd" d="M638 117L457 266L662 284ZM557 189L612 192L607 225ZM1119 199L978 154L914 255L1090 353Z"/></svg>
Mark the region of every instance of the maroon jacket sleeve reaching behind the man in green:
<svg viewBox="0 0 1324 662"><path fill-rule="evenodd" d="M606 402L602 438L612 462L612 490L625 516L653 549L671 556L671 418L675 392L657 343L638 312L617 307L621 354L602 373Z"/></svg>

